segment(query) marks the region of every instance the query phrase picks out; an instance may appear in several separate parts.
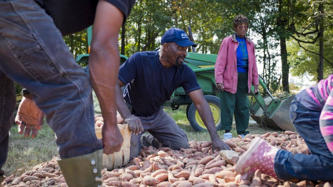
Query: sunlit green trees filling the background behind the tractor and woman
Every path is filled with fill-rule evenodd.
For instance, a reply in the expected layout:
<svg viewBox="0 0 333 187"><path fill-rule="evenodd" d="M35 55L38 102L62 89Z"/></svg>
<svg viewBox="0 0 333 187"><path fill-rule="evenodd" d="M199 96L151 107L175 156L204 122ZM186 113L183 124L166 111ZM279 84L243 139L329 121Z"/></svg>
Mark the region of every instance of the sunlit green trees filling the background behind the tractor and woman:
<svg viewBox="0 0 333 187"><path fill-rule="evenodd" d="M332 6L331 0L137 0L119 46L129 57L160 47L167 29L188 33L191 26L196 52L217 54L223 38L234 33L233 18L243 14L262 77L272 92L289 92L289 72L316 81L332 73ZM88 52L85 31L64 40L74 56Z"/></svg>

